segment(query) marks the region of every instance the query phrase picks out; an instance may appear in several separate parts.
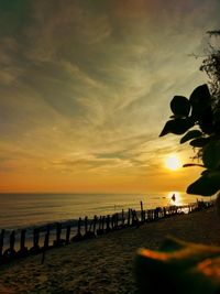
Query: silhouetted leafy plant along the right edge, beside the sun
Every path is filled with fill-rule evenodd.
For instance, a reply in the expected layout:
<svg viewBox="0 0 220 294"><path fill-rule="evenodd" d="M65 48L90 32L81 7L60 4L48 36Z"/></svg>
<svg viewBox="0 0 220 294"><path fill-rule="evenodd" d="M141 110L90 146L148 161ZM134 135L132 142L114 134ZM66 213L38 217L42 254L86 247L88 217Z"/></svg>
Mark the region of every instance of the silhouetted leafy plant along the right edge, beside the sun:
<svg viewBox="0 0 220 294"><path fill-rule="evenodd" d="M220 31L208 32L209 36L220 37ZM197 149L202 164L201 176L187 187L188 194L211 196L220 190L220 48L209 44L210 53L200 67L209 77L209 86L195 88L189 99L175 96L170 101L173 115L160 137L167 133L183 135L180 144L189 142Z"/></svg>

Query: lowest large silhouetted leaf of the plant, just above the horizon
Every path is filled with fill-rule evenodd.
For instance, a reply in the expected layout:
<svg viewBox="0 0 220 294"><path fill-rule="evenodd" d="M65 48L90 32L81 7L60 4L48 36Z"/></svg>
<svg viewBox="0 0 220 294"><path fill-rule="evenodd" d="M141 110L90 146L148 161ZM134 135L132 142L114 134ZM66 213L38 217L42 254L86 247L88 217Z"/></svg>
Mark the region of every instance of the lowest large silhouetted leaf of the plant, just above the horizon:
<svg viewBox="0 0 220 294"><path fill-rule="evenodd" d="M211 196L220 189L220 171L202 174L196 182L187 188L188 194Z"/></svg>

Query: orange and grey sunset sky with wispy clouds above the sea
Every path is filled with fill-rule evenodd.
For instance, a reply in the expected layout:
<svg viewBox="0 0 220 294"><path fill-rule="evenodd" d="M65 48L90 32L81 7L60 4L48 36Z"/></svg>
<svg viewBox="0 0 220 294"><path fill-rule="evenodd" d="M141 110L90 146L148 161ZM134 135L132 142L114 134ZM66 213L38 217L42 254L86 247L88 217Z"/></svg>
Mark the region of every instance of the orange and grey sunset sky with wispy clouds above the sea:
<svg viewBox="0 0 220 294"><path fill-rule="evenodd" d="M185 190L158 138L199 70L219 0L0 0L0 192Z"/></svg>

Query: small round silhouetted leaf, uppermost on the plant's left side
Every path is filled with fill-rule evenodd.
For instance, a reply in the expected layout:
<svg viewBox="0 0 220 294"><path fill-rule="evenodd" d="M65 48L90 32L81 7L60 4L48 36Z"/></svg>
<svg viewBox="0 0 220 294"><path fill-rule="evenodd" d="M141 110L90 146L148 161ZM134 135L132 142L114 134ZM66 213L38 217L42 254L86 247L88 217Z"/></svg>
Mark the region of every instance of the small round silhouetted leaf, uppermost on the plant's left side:
<svg viewBox="0 0 220 294"><path fill-rule="evenodd" d="M176 117L188 117L190 107L189 100L184 96L174 96L170 101L170 109Z"/></svg>

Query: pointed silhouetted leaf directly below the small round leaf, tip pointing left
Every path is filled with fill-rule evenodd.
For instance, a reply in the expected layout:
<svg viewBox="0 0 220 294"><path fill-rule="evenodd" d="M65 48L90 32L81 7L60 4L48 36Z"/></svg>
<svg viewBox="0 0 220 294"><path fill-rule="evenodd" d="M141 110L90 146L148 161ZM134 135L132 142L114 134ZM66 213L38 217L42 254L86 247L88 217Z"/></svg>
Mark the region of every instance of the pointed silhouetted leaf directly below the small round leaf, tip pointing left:
<svg viewBox="0 0 220 294"><path fill-rule="evenodd" d="M168 120L164 126L164 129L162 130L160 137L163 137L167 133L183 134L193 126L194 122L189 118Z"/></svg>

